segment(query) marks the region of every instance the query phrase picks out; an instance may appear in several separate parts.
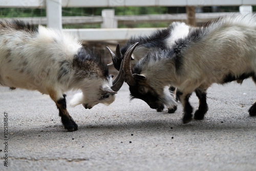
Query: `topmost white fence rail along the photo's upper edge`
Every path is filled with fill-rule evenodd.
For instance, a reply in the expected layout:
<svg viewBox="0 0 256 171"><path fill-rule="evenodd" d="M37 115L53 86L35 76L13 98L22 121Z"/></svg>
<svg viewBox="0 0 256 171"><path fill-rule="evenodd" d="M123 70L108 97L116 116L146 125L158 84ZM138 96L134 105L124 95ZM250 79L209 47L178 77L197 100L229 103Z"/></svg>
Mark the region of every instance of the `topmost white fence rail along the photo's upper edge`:
<svg viewBox="0 0 256 171"><path fill-rule="evenodd" d="M57 0L2 0L0 7L6 8L46 8L46 2ZM185 7L185 6L241 6L256 5L255 0L62 0L61 7L127 7L127 6L168 6L168 7Z"/></svg>

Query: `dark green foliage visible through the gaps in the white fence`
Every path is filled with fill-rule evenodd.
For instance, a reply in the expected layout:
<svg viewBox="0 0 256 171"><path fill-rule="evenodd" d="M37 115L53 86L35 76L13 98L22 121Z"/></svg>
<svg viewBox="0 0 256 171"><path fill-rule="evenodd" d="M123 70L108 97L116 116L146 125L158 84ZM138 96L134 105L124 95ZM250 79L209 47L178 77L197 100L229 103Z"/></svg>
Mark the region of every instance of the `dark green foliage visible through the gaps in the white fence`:
<svg viewBox="0 0 256 171"><path fill-rule="evenodd" d="M103 9L113 8L62 8L62 16L93 16L101 15ZM184 7L115 7L115 15L146 15L165 13L184 13ZM256 11L256 6L252 7ZM238 12L239 7L219 7L220 12ZM203 7L203 12L212 12L211 7ZM0 18L10 17L45 17L46 9L30 8L0 8ZM119 24L119 28L126 27L167 27L166 23L141 23L134 25ZM63 28L100 28L100 24L65 25Z"/></svg>

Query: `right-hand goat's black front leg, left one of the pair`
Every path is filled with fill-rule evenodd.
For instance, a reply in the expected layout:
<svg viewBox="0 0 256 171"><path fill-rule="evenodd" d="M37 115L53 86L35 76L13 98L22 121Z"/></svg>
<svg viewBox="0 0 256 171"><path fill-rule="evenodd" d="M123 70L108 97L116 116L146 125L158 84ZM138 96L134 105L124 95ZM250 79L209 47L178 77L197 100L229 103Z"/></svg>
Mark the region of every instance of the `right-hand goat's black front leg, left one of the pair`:
<svg viewBox="0 0 256 171"><path fill-rule="evenodd" d="M182 119L183 123L188 123L192 120L193 108L188 101L190 95L191 93L183 94L182 92L179 92L179 100L182 103L183 111L184 111L184 116Z"/></svg>

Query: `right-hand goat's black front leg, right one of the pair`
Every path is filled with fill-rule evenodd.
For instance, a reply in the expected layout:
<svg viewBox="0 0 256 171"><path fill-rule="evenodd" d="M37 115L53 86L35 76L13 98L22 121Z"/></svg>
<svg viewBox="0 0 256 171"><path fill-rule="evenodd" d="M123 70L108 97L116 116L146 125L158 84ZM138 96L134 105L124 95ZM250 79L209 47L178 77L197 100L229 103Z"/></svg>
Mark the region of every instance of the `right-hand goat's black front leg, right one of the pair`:
<svg viewBox="0 0 256 171"><path fill-rule="evenodd" d="M202 120L204 119L205 113L208 111L208 104L206 102L206 91L207 89L196 89L196 95L199 99L198 110L195 112L194 119Z"/></svg>

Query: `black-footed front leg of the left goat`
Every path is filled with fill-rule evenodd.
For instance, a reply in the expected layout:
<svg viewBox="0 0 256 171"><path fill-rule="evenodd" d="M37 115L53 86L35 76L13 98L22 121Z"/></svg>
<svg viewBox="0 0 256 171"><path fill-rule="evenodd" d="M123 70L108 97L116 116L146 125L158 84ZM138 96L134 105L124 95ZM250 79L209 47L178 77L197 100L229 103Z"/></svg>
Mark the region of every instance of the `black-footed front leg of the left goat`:
<svg viewBox="0 0 256 171"><path fill-rule="evenodd" d="M69 112L67 110L66 94L57 95L55 91L48 92L52 100L56 103L56 106L59 110L59 116L61 117L61 122L64 125L65 129L70 132L78 130L76 122L69 115Z"/></svg>

